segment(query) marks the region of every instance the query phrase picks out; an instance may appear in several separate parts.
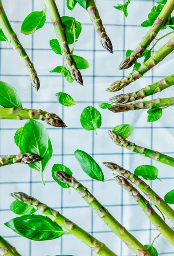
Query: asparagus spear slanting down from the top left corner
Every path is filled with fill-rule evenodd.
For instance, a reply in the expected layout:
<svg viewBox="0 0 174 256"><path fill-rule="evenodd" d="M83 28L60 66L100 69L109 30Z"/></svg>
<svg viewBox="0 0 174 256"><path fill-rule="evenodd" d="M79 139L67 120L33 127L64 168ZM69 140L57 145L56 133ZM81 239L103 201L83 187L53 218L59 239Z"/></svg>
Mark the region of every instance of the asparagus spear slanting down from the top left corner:
<svg viewBox="0 0 174 256"><path fill-rule="evenodd" d="M29 59L29 56L26 54L25 49L20 44L17 35L12 29L12 26L9 23L9 20L6 16L6 13L3 9L3 4L0 0L0 29L3 30L4 35L8 39L9 44L12 45L17 55L22 59L24 66L27 68L29 72L29 76L31 77L31 82L33 87L38 91L40 87L40 82L36 73L36 70Z"/></svg>

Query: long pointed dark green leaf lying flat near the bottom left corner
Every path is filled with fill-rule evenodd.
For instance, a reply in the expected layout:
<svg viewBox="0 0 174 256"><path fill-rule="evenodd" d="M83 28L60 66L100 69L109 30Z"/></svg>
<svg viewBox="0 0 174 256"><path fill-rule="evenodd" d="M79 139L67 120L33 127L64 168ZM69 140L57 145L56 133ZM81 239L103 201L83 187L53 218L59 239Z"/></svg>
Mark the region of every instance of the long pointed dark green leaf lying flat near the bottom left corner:
<svg viewBox="0 0 174 256"><path fill-rule="evenodd" d="M59 238L64 233L61 226L42 215L23 215L5 223L14 232L34 241Z"/></svg>

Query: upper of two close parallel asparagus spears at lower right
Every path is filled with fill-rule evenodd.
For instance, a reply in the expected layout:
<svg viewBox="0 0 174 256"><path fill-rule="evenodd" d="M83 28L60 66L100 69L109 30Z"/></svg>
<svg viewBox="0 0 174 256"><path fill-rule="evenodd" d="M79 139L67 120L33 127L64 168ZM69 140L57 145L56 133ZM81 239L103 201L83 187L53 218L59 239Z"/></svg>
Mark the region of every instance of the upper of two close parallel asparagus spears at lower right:
<svg viewBox="0 0 174 256"><path fill-rule="evenodd" d="M145 195L174 223L174 210L154 192L151 187L132 172L124 169L116 163L104 162L107 168L112 169L135 184Z"/></svg>

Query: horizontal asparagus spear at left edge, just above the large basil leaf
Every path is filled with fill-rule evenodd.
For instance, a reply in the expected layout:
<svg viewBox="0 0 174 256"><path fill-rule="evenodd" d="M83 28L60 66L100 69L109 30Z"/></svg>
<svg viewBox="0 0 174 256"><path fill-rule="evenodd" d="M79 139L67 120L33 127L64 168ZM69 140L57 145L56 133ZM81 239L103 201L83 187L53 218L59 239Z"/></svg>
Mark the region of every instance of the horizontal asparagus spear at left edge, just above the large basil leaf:
<svg viewBox="0 0 174 256"><path fill-rule="evenodd" d="M67 127L59 116L41 109L0 108L0 119L39 119L55 127Z"/></svg>

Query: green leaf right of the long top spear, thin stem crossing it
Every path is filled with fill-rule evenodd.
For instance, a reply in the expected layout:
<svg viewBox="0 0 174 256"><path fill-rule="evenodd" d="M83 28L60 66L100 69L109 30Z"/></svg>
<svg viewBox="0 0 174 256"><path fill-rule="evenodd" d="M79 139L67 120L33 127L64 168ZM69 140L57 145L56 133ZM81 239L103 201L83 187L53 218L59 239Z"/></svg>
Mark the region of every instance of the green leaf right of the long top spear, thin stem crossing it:
<svg viewBox="0 0 174 256"><path fill-rule="evenodd" d="M62 23L65 28L65 34L67 36L68 44L74 43L74 32L75 39L78 39L81 33L81 23L76 21L75 18L69 16L61 17Z"/></svg>

